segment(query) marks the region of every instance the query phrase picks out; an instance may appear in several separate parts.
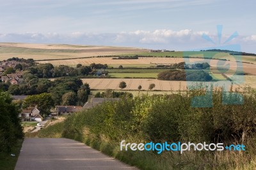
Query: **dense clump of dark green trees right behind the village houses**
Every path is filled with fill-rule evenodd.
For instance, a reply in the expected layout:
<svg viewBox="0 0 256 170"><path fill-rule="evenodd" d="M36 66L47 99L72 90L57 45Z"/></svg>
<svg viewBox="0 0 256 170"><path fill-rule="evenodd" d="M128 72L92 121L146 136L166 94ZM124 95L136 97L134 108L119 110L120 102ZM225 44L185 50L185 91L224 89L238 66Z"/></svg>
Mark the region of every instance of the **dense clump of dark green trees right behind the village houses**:
<svg viewBox="0 0 256 170"><path fill-rule="evenodd" d="M51 109L51 106L54 105L83 105L90 95L90 86L83 84L81 79L76 77L60 77L54 81L35 78L31 79L28 84L12 84L8 93L30 95L24 100L23 107L35 105L42 107L48 102L47 108ZM45 97L45 94L49 94L49 96ZM49 112L49 109L43 108L42 110Z"/></svg>

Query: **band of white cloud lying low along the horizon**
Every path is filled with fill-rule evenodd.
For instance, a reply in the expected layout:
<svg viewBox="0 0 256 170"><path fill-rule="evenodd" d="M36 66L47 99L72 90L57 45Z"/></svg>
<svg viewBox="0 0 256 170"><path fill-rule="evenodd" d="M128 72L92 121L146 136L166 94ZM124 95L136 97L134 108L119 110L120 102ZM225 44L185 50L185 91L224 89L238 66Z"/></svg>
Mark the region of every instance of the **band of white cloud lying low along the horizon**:
<svg viewBox="0 0 256 170"><path fill-rule="evenodd" d="M208 35L216 47L220 46L230 35L223 35L221 44L218 44L218 35L207 31L193 31L182 29L173 31L170 29L156 29L154 31L136 30L120 33L12 33L0 34L0 42L24 42L24 43L70 43L83 45L115 45L127 47L143 47L147 49L188 50L214 48L214 44L207 42L202 35ZM256 35L237 36L227 45L240 44L243 51L256 52Z"/></svg>

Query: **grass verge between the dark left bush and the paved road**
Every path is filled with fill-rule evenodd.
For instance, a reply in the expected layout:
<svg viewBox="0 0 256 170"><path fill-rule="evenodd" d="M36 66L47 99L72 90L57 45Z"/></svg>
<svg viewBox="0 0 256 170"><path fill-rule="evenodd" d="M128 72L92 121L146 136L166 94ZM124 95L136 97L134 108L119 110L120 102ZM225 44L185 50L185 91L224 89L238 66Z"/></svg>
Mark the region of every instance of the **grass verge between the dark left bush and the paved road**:
<svg viewBox="0 0 256 170"><path fill-rule="evenodd" d="M18 141L18 143L12 147L10 153L0 153L0 169L11 170L15 168L22 142L23 140ZM15 157L12 157L11 154L14 154Z"/></svg>

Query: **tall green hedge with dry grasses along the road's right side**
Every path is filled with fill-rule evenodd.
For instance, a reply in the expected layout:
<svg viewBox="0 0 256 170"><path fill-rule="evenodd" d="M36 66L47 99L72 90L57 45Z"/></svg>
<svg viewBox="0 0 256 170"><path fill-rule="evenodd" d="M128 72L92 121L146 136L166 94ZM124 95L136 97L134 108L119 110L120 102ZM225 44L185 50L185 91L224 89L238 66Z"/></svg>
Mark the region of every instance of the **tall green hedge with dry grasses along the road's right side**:
<svg viewBox="0 0 256 170"><path fill-rule="evenodd" d="M141 95L105 102L69 116L55 134L75 139L141 169L255 169L256 93L243 89L243 105L223 105L222 89L213 92L213 107L191 107L204 95L197 89L173 95ZM236 101L237 95L225 95ZM207 102L207 101L202 101ZM57 125L56 125L57 126ZM39 134L51 136L52 128ZM38 135L38 136L39 136ZM120 151L125 143L244 144L246 151Z"/></svg>

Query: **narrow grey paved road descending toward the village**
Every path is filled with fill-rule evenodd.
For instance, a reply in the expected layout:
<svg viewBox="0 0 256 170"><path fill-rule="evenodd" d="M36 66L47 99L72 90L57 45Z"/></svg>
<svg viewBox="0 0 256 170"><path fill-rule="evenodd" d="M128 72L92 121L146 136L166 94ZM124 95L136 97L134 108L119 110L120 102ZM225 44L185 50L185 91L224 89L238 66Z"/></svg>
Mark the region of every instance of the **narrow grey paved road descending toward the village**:
<svg viewBox="0 0 256 170"><path fill-rule="evenodd" d="M27 138L15 169L136 169L71 139Z"/></svg>

